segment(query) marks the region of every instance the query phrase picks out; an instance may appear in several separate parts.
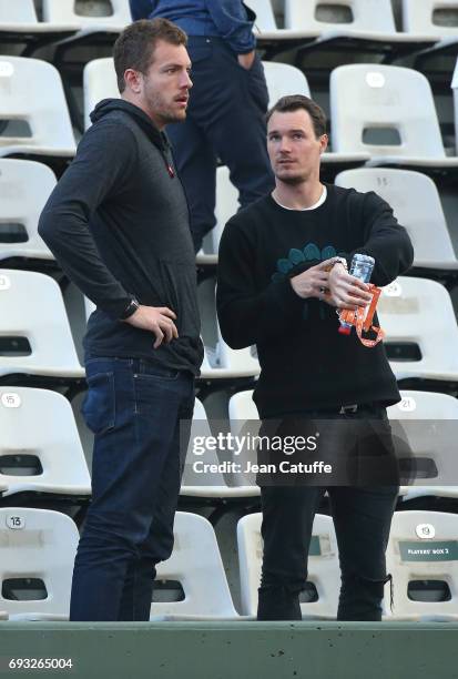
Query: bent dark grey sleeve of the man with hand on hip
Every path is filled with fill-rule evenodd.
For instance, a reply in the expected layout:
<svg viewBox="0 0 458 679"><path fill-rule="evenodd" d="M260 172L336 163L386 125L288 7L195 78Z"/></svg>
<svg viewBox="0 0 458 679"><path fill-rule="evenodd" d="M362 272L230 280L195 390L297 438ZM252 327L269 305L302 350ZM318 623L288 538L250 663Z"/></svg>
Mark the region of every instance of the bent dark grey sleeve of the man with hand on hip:
<svg viewBox="0 0 458 679"><path fill-rule="evenodd" d="M116 320L132 295L106 268L90 229L91 215L120 195L136 158L132 132L101 121L88 130L77 156L40 215L38 232L63 272L98 307Z"/></svg>

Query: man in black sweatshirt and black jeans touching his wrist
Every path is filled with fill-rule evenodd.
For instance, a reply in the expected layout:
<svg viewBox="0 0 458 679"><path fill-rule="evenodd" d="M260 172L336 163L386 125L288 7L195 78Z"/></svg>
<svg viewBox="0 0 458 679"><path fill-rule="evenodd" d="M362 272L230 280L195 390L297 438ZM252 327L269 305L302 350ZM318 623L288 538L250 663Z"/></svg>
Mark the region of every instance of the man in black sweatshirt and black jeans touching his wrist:
<svg viewBox="0 0 458 679"><path fill-rule="evenodd" d="M352 426L372 418L388 460L386 406L399 401L395 376L381 343L369 348L355 334L338 333L336 310L370 300L367 285L347 272L354 253L372 255L372 282L387 285L410 266L413 247L378 195L320 183L326 145L326 120L315 102L286 97L269 111L267 148L276 188L224 230L220 325L230 346L257 346L262 373L254 401L263 420L289 422L283 430L297 433L297 422L306 428L311 418ZM258 619L301 619L313 517L326 487L314 483L286 486L277 475L262 485ZM342 568L340 620L380 619L397 490L396 482L328 488Z"/></svg>

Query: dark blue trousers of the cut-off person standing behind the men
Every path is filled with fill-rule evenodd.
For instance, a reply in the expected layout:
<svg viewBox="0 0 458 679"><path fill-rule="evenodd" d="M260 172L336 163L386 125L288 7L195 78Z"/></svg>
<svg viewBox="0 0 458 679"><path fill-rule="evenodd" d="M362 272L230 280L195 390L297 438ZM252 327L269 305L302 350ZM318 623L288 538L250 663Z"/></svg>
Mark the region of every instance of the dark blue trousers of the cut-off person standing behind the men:
<svg viewBox="0 0 458 679"><path fill-rule="evenodd" d="M194 83L185 122L167 125L187 195L195 252L215 225L217 159L245 207L274 189L266 148L268 93L263 64L250 70L222 38L190 36ZM274 102L272 102L274 103Z"/></svg>

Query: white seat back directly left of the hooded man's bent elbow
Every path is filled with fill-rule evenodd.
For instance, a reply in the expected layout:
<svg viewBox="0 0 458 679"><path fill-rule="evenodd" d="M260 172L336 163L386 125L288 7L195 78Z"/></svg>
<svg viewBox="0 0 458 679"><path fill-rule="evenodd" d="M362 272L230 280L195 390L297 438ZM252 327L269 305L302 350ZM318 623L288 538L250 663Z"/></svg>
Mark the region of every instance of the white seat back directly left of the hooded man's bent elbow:
<svg viewBox="0 0 458 679"><path fill-rule="evenodd" d="M54 186L55 176L47 165L0 159L0 260L18 256L53 259L37 226Z"/></svg>

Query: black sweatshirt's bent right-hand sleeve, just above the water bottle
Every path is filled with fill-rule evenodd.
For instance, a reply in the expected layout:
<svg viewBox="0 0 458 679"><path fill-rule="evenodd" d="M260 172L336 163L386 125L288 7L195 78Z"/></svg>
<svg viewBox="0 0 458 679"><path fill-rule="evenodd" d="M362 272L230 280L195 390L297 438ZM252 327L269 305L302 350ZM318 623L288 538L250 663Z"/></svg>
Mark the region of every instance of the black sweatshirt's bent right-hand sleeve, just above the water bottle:
<svg viewBox="0 0 458 679"><path fill-rule="evenodd" d="M365 194L362 219L365 243L350 253L348 264L356 252L370 255L375 259L370 282L388 285L410 268L414 262L411 241L388 203L373 191Z"/></svg>

